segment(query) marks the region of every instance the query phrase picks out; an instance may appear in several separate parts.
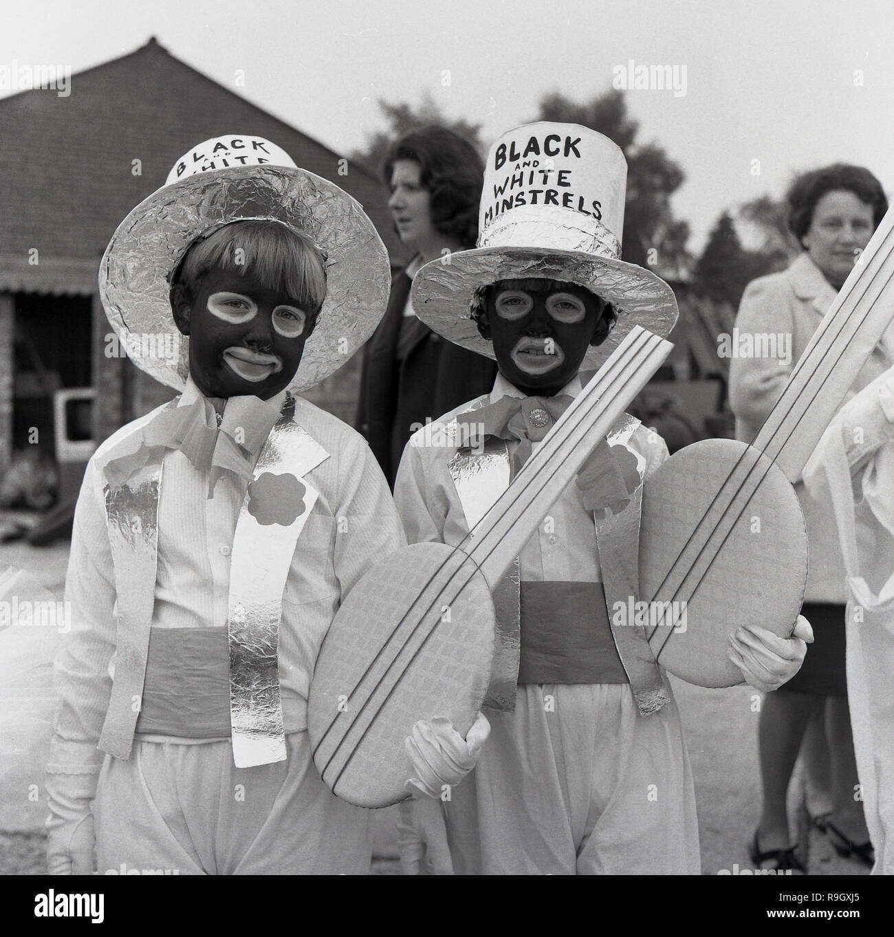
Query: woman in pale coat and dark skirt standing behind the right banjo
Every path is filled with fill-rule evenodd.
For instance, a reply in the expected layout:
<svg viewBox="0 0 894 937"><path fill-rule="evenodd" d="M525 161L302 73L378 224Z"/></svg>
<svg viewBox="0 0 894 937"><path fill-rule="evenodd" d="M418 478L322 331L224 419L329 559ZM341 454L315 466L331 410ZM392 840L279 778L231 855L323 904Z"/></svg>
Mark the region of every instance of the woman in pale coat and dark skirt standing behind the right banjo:
<svg viewBox="0 0 894 937"><path fill-rule="evenodd" d="M780 357L736 358L730 364L730 406L736 436L749 442L776 403L813 332L869 243L887 200L872 172L836 163L805 173L788 191L788 225L802 253L782 273L749 284L739 305L739 335L776 335ZM754 347L760 347L755 344ZM767 348L767 344L763 345ZM848 398L894 363L883 340L872 352ZM810 569L802 613L816 640L800 672L767 693L758 736L763 811L751 844L757 868L797 869L785 801L803 744L808 810L839 855L872 865L872 845L857 799L857 766L844 670L844 567L828 506L796 491L807 525ZM808 730L810 724L811 729ZM805 736L806 733L806 736ZM813 799L812 799L813 798ZM812 799L812 802L811 802ZM824 802L825 801L825 802Z"/></svg>

